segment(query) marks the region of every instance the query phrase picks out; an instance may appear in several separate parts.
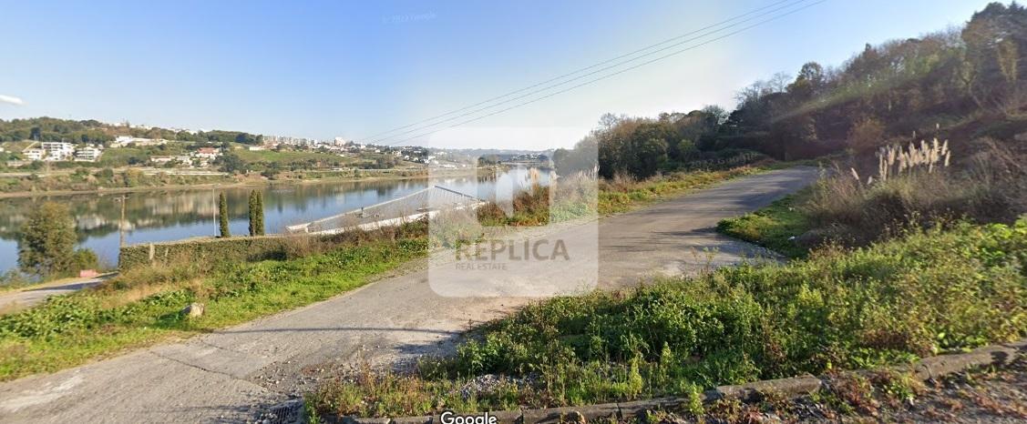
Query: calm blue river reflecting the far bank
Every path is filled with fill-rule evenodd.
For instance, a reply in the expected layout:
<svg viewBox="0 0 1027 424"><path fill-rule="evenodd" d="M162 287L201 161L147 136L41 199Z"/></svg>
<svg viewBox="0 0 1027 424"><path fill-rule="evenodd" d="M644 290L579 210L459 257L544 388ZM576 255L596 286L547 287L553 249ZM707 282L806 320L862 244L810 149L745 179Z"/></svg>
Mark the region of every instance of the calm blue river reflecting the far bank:
<svg viewBox="0 0 1027 424"><path fill-rule="evenodd" d="M525 187L529 169L516 167L494 176L436 178L430 184L492 198ZM541 172L542 184L547 183ZM232 235L249 234L250 191L264 194L268 233L402 197L428 187L428 179L366 182L276 184L204 190L151 190L125 194L125 243L169 241L216 235L217 195L225 193ZM122 194L75 194L0 199L0 272L17 267L17 230L43 201L65 203L75 217L79 245L91 248L104 265L117 265Z"/></svg>

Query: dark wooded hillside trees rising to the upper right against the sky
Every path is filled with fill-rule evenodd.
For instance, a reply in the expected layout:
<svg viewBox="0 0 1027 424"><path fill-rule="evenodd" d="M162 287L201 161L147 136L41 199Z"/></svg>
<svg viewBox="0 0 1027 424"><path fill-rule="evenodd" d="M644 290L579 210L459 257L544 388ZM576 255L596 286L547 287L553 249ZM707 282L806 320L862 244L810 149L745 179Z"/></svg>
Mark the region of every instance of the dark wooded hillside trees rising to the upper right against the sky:
<svg viewBox="0 0 1027 424"><path fill-rule="evenodd" d="M967 141L1012 139L1027 130L1027 8L992 3L961 31L867 44L837 68L809 62L794 78L778 73L743 88L736 102L730 113L607 114L554 162L558 171L581 167L571 165L587 156L578 150L595 146L600 176L647 178L739 150L783 160L873 155L946 124Z"/></svg>

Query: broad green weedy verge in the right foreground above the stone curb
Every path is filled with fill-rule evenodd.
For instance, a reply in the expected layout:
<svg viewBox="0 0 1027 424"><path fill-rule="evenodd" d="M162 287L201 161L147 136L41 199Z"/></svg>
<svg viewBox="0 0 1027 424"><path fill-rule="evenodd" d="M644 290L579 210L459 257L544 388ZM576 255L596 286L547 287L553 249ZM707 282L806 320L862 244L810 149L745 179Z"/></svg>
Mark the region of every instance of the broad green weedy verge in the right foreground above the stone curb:
<svg viewBox="0 0 1027 424"><path fill-rule="evenodd" d="M1025 264L1027 220L961 224L556 298L483 326L415 375L351 376L307 400L320 415L545 408L908 362L1027 334Z"/></svg>

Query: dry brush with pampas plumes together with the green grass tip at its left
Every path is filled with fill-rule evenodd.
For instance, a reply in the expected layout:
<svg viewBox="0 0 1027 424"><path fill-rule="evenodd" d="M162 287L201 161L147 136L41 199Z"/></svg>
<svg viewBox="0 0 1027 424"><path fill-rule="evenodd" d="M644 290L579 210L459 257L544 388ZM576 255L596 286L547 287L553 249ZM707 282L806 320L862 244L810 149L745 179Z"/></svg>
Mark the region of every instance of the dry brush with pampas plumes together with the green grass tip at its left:
<svg viewBox="0 0 1027 424"><path fill-rule="evenodd" d="M1027 211L1027 150L982 139L976 154L960 158L943 151L947 145L890 146L877 160L836 163L809 189L718 229L796 258L823 245L867 245L910 226L1010 224Z"/></svg>

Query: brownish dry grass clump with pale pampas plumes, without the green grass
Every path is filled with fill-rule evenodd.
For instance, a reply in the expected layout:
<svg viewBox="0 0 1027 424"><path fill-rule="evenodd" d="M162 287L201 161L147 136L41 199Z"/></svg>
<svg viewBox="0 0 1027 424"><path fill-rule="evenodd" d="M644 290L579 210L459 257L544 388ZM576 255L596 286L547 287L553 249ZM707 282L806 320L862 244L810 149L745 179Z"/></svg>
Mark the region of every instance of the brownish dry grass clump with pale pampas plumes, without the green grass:
<svg viewBox="0 0 1027 424"><path fill-rule="evenodd" d="M864 181L835 165L801 207L814 228L830 228L846 244L866 244L902 228L966 219L1015 221L1027 211L1027 156L991 141L956 168L948 142L882 148L877 175Z"/></svg>

